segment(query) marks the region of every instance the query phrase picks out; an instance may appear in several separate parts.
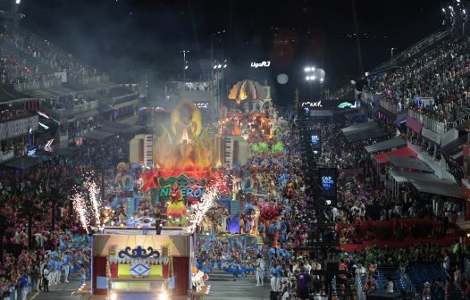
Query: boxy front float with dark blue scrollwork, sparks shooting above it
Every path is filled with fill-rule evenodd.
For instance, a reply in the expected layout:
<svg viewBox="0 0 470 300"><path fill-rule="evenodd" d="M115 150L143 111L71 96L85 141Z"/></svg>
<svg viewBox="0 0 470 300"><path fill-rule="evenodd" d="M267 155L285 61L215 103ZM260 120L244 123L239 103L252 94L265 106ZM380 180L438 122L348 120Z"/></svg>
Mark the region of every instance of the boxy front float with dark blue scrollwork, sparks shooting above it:
<svg viewBox="0 0 470 300"><path fill-rule="evenodd" d="M191 242L187 235L93 236L93 295L110 299L188 299Z"/></svg>

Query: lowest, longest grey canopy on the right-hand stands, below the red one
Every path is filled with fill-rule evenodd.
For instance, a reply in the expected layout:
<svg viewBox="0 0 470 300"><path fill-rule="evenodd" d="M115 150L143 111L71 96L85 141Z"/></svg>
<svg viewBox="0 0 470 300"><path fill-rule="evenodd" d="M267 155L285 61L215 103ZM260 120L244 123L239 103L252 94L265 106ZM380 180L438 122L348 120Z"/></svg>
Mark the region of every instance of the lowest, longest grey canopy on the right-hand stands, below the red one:
<svg viewBox="0 0 470 300"><path fill-rule="evenodd" d="M461 198L460 187L452 180L440 179L432 173L390 171L390 175L398 182L410 182L422 193Z"/></svg>

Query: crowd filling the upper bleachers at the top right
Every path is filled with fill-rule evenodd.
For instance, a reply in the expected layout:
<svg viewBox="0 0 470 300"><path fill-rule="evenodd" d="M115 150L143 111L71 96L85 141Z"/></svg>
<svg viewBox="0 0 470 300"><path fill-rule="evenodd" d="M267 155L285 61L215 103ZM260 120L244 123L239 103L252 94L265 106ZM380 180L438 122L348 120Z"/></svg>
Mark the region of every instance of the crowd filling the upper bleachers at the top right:
<svg viewBox="0 0 470 300"><path fill-rule="evenodd" d="M412 107L438 121L453 121L457 106L467 104L470 71L469 41L465 37L446 40L412 63L372 75L366 90L382 93L382 99L397 112ZM432 97L431 104L415 104L415 99Z"/></svg>

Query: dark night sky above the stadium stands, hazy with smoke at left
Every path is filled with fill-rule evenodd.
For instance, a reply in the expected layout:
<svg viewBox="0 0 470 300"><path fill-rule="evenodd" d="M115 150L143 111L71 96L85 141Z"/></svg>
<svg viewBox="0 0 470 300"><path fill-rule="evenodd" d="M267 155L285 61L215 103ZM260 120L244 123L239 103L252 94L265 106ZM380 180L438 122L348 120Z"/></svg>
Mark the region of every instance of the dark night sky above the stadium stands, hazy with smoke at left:
<svg viewBox="0 0 470 300"><path fill-rule="evenodd" d="M180 50L189 50L187 77L207 78L211 57L227 59L227 82L272 82L278 102L305 90L303 67L326 71L325 86L359 74L352 0L21 0L22 26L111 74L161 86L182 76ZM364 70L441 29L441 1L356 0ZM220 32L220 33L219 33ZM212 45L212 47L211 47ZM399 51L398 51L399 52ZM269 69L251 62L271 60ZM274 84L286 73L287 85ZM277 93L277 94L276 94Z"/></svg>

